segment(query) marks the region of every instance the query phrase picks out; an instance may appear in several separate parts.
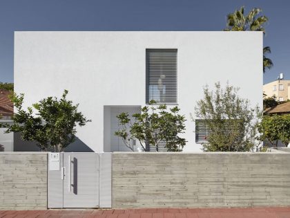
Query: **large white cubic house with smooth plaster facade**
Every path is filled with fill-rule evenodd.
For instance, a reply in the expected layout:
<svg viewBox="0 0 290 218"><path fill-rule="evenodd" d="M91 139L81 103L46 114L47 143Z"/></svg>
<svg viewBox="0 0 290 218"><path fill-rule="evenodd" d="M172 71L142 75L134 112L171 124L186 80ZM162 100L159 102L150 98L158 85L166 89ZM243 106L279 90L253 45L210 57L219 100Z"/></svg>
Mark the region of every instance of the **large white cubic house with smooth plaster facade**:
<svg viewBox="0 0 290 218"><path fill-rule="evenodd" d="M203 87L218 81L240 87L242 98L262 107L262 32L14 34L14 90L25 93L24 106L67 89L92 120L77 128L78 140L66 151L128 151L114 134L116 116L139 113L151 99L180 107L186 116L184 151L200 151L190 114L195 118ZM35 149L17 143L14 150Z"/></svg>

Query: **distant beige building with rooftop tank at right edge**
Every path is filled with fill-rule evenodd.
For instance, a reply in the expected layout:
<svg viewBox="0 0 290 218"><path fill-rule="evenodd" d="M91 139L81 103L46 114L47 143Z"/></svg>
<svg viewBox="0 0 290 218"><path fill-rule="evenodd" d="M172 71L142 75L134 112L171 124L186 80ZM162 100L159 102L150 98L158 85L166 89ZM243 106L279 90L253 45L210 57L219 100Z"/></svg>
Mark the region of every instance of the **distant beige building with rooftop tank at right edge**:
<svg viewBox="0 0 290 218"><path fill-rule="evenodd" d="M263 93L264 98L275 96L279 102L290 100L290 80L283 80L280 76L278 80L264 84Z"/></svg>

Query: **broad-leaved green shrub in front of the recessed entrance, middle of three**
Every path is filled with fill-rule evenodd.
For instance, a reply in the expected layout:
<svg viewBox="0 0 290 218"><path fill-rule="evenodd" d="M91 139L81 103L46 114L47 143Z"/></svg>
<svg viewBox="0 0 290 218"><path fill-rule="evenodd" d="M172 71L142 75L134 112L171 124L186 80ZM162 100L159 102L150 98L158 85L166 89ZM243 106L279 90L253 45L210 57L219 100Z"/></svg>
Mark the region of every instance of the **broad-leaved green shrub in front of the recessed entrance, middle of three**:
<svg viewBox="0 0 290 218"><path fill-rule="evenodd" d="M186 140L180 138L184 133L186 121L184 116L178 114L180 109L173 107L167 110L166 105L155 106L151 100L150 106L142 107L141 113L134 113L131 120L128 113L117 116L122 129L115 132L124 141L125 145L133 150L132 140L139 140L144 151L148 151L148 145L154 145L156 151L162 142L166 143L169 152L182 151Z"/></svg>

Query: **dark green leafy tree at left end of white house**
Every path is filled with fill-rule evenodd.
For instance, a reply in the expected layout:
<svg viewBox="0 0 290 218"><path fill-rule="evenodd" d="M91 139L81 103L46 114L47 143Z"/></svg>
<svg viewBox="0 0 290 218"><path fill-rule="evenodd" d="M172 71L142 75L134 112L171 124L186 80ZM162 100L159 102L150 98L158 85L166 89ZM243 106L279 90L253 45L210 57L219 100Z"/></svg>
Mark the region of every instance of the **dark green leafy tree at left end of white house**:
<svg viewBox="0 0 290 218"><path fill-rule="evenodd" d="M14 123L7 132L20 132L23 140L35 141L41 150L63 151L75 141L76 125L84 126L90 122L77 111L78 105L72 105L72 101L66 99L67 94L65 90L60 99L44 98L25 110L22 107L24 95L14 93L11 100L17 113L14 113Z"/></svg>

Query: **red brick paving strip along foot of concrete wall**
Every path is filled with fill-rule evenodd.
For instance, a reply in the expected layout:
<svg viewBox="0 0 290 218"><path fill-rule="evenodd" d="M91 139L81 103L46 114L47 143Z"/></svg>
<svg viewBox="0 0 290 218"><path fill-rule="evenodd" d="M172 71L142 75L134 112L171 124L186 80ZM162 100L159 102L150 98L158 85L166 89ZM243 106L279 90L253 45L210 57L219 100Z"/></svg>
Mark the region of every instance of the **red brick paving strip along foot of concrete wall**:
<svg viewBox="0 0 290 218"><path fill-rule="evenodd" d="M0 218L290 218L286 208L145 208L128 210L0 210Z"/></svg>

